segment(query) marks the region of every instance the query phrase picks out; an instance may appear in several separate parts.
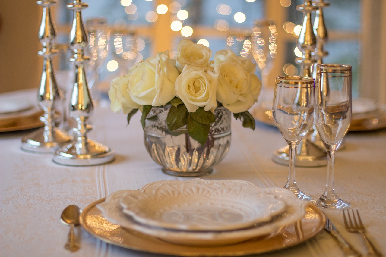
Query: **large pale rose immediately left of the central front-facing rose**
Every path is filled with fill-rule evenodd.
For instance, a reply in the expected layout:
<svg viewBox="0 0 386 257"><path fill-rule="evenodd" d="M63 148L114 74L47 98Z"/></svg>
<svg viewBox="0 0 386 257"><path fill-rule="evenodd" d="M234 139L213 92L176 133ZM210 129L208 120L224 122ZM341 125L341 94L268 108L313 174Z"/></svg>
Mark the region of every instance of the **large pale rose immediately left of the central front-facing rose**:
<svg viewBox="0 0 386 257"><path fill-rule="evenodd" d="M178 71L169 58L169 51L158 52L134 66L129 76L128 92L139 105L161 106L174 98L174 82Z"/></svg>

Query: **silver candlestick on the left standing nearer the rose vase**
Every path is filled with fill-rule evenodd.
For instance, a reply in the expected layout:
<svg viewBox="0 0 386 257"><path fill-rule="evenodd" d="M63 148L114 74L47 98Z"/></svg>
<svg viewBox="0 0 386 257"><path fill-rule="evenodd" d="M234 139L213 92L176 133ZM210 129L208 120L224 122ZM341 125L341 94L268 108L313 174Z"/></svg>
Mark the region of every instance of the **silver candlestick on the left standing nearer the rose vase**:
<svg viewBox="0 0 386 257"><path fill-rule="evenodd" d="M75 81L70 101L69 115L76 121L73 128L75 142L59 148L54 153L53 161L71 166L89 166L113 161L114 150L95 140L88 139L86 134L92 129L87 120L93 111L93 101L87 85L85 63L90 61L85 56L88 46L87 32L83 25L81 10L88 7L81 0L73 0L67 8L73 10L73 24L69 34L69 45L73 56L69 61L74 63Z"/></svg>

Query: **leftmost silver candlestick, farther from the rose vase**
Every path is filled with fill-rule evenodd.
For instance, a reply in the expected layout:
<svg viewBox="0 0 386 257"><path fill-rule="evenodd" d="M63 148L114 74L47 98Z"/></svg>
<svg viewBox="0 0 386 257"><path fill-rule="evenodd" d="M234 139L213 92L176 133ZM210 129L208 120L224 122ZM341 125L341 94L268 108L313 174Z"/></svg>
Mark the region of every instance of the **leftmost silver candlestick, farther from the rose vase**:
<svg viewBox="0 0 386 257"><path fill-rule="evenodd" d="M56 127L59 117L56 115L55 102L60 100L60 93L52 66L52 56L57 54L57 51L52 48L52 43L56 38L56 29L51 17L51 5L56 4L56 1L44 0L36 3L43 7L39 27L39 41L43 47L41 51L38 51L38 54L44 58L44 62L38 91L38 102L40 108L44 111L43 116L40 117L44 127L25 136L22 139L21 148L35 153L52 153L59 147L68 144L73 138Z"/></svg>

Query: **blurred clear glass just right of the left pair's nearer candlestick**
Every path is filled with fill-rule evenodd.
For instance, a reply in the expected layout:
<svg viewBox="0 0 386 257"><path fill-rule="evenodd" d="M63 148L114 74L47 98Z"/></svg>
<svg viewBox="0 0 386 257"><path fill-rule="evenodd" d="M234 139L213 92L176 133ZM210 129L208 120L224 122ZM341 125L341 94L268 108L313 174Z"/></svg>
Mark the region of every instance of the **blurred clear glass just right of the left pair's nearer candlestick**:
<svg viewBox="0 0 386 257"><path fill-rule="evenodd" d="M88 86L95 100L100 98L100 74L108 54L108 37L110 29L107 19L103 17L90 18L86 20L88 32L88 48L86 55L90 57L87 65Z"/></svg>

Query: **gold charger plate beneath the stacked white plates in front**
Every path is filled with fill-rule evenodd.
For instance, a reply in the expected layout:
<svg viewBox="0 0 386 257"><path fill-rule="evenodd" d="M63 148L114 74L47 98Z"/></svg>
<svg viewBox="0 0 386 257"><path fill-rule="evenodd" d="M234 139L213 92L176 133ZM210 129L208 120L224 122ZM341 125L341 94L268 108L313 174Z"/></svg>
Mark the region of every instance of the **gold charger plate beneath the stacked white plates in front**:
<svg viewBox="0 0 386 257"><path fill-rule="evenodd" d="M200 247L176 245L159 240L156 237L142 234L135 230L126 230L103 218L96 207L105 201L102 198L91 203L80 215L80 223L87 232L100 240L120 247L176 256L240 256L261 254L297 245L314 237L325 224L323 213L315 206L306 208L306 215L298 222L282 227L278 233L265 238L251 238L234 245Z"/></svg>

